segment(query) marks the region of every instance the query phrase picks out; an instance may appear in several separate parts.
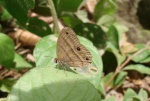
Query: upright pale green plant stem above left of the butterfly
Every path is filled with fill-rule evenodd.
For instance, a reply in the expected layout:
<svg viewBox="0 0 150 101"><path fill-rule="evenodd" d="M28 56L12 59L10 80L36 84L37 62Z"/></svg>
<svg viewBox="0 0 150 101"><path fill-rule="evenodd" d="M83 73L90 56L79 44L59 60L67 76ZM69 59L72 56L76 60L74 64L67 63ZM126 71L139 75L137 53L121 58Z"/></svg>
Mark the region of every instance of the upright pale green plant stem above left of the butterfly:
<svg viewBox="0 0 150 101"><path fill-rule="evenodd" d="M53 3L53 0L47 0L48 2L48 7L50 8L52 17L53 17L53 22L54 22L54 33L59 33L59 26L58 26L58 17L57 17L57 13L56 13L56 9Z"/></svg>

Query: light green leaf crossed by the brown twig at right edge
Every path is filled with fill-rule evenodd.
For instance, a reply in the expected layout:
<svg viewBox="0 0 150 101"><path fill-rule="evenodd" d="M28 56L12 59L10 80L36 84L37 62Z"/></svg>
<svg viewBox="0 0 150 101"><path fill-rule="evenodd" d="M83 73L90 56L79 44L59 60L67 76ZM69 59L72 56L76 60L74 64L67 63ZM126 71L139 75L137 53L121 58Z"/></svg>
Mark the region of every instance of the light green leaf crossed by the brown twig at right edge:
<svg viewBox="0 0 150 101"><path fill-rule="evenodd" d="M135 46L138 48L138 50L141 50L146 47L144 44L137 44ZM146 60L146 59L149 60L149 57L150 57L150 49L147 49L147 50L141 52L140 54L136 55L135 57L133 57L132 60L134 62L143 63L144 60ZM149 62L149 61L146 61L146 62Z"/></svg>

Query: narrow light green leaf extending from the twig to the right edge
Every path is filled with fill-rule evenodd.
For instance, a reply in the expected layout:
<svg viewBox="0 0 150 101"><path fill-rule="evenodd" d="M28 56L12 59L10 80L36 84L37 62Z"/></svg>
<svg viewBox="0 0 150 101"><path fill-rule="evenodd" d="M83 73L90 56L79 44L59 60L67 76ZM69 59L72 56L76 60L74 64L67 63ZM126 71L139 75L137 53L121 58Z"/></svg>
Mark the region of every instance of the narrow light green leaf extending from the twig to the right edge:
<svg viewBox="0 0 150 101"><path fill-rule="evenodd" d="M136 71L140 72L141 74L148 74L148 75L150 75L150 68L146 67L144 65L140 65L140 64L128 65L128 66L124 67L123 70L136 70Z"/></svg>

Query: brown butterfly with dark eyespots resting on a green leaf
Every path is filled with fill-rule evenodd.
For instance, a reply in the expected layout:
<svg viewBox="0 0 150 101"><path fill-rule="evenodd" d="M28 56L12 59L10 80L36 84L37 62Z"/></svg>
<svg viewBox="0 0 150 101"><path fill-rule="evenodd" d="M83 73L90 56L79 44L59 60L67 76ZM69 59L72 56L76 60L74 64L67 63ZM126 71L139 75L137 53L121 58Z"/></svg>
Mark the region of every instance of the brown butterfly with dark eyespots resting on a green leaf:
<svg viewBox="0 0 150 101"><path fill-rule="evenodd" d="M80 44L75 32L69 27L61 30L56 52L55 62L62 66L83 67L92 63L91 53Z"/></svg>

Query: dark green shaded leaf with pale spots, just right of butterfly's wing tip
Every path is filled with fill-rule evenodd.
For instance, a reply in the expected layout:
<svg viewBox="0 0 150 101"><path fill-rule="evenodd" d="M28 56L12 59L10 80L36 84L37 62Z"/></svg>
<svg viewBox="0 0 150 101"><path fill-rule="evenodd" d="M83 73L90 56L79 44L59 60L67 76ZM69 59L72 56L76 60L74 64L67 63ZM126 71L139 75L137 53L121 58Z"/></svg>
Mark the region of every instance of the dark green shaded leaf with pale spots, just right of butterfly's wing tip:
<svg viewBox="0 0 150 101"><path fill-rule="evenodd" d="M106 47L106 35L100 26L91 23L81 23L74 28L74 31L88 38L98 48Z"/></svg>

